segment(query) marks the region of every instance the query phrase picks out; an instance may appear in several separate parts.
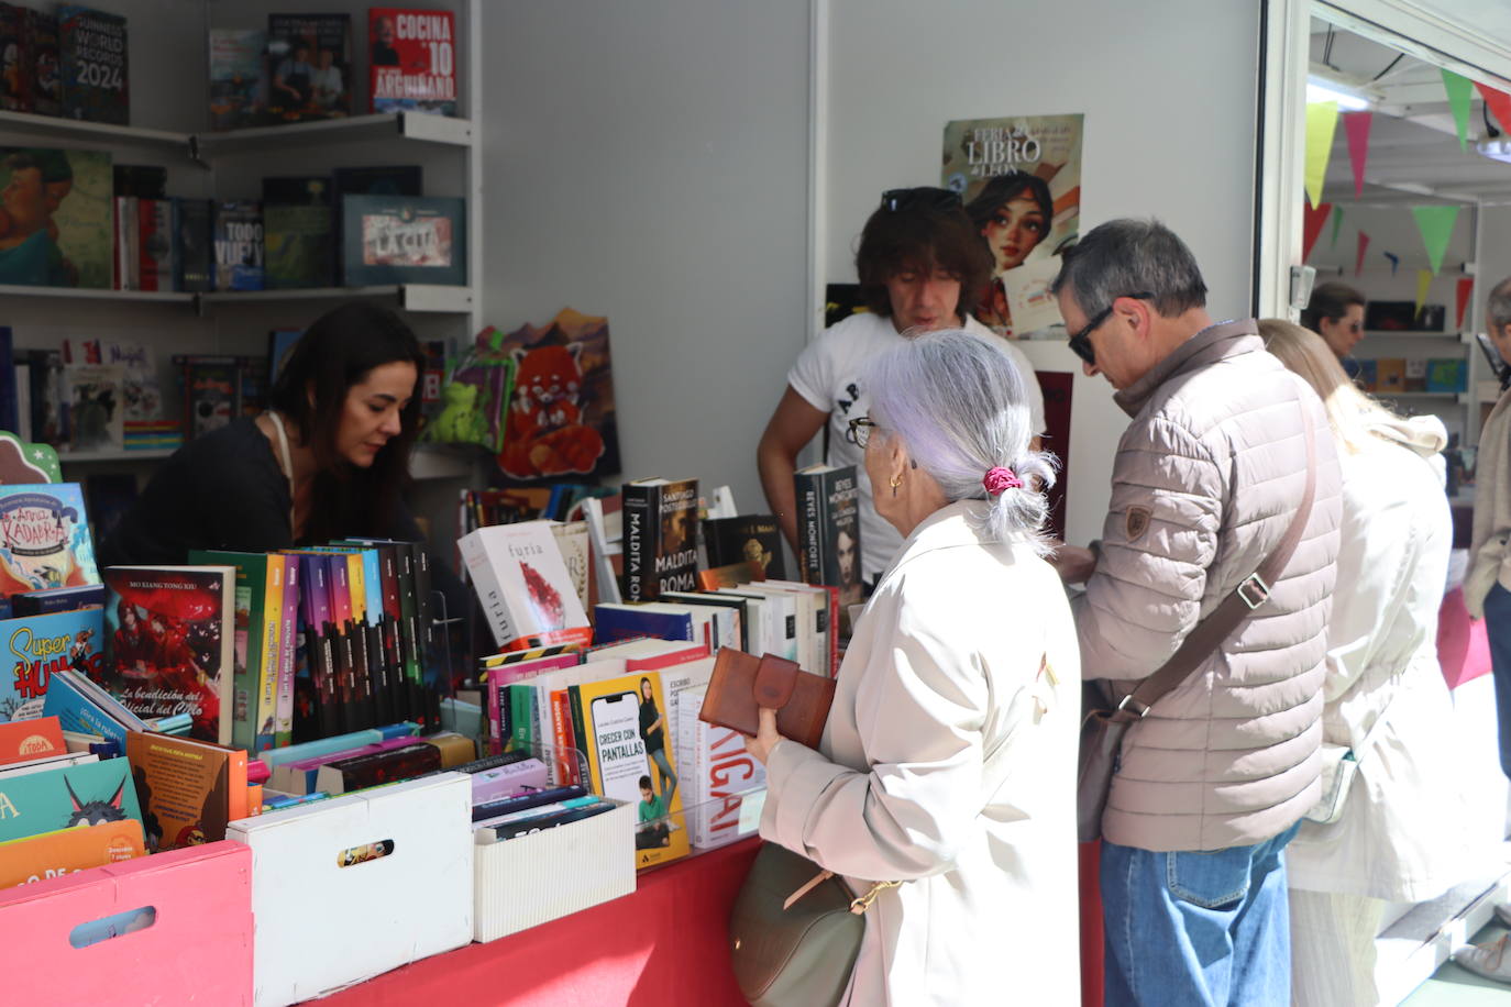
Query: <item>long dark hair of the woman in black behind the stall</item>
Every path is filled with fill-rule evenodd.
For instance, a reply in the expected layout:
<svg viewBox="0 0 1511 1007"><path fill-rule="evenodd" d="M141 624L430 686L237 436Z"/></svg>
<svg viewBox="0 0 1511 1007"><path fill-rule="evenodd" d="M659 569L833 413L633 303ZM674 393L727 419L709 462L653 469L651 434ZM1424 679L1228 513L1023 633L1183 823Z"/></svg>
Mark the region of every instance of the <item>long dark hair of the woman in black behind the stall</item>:
<svg viewBox="0 0 1511 1007"><path fill-rule="evenodd" d="M314 451L314 506L304 539L382 536L391 530L399 497L409 485L409 448L419 433L419 386L400 414L399 436L388 441L372 467L361 470L335 448L346 393L384 364L414 364L425 370L425 350L414 332L388 308L352 300L322 314L289 352L267 393L267 405L293 424L292 433ZM419 380L416 380L419 385Z"/></svg>

